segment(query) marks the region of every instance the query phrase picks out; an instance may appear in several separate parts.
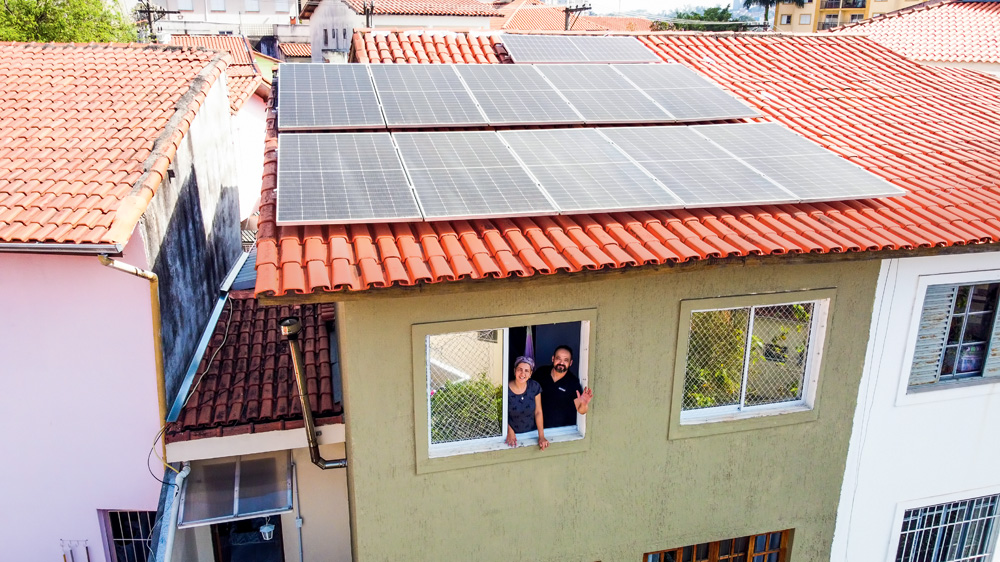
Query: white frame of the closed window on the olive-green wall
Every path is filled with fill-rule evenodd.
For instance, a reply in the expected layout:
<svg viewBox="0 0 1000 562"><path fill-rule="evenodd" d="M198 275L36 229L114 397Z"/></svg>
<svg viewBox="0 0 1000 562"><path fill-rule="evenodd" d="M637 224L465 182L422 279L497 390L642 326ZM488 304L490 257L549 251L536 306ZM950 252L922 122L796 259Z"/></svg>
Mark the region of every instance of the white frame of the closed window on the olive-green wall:
<svg viewBox="0 0 1000 562"><path fill-rule="evenodd" d="M754 304L753 297L747 297L743 304L734 303L733 306L719 306L719 307L695 307L691 309L686 309L682 311L681 317L681 331L678 334L679 338L683 338L687 341L690 338L691 331L691 315L695 312L709 312L713 310L733 310L737 308L758 308L758 307L768 307L768 306L781 306L790 304L802 304L802 303L812 303L813 313L810 323L810 333L809 333L809 343L806 346L805 353L805 367L803 368L802 376L802 398L795 401L779 402L776 404L761 404L757 406L742 406L740 404L734 404L730 406L717 406L714 408L698 408L694 410L684 410L683 407L683 393L685 386L685 378L687 374L687 344L684 345L683 349L678 350L678 369L675 370L675 376L680 378L679 384L675 384L675 389L680 389L681 396L679 398L680 406L680 423L681 425L696 425L704 423L715 423L722 421L731 420L741 420L748 418L756 418L761 416L772 416L776 414L788 414L793 412L806 412L814 408L816 403L816 389L819 386L819 373L820 366L822 363L823 347L826 341L826 329L828 323L828 317L830 312L830 298L795 298L794 293L783 294L781 296L787 297L786 299L779 300L777 302L771 302L768 299L767 303ZM728 300L728 299L726 299ZM751 310L752 312L752 310ZM747 329L747 337L750 338L753 334L753 314L750 316L749 327ZM681 357L680 351L683 351L683 357ZM746 393L747 385L747 374L749 371L749 357L750 348L747 346L747 356L743 360L743 380L740 383L740 402L744 401L744 396ZM683 365L683 366L682 366Z"/></svg>

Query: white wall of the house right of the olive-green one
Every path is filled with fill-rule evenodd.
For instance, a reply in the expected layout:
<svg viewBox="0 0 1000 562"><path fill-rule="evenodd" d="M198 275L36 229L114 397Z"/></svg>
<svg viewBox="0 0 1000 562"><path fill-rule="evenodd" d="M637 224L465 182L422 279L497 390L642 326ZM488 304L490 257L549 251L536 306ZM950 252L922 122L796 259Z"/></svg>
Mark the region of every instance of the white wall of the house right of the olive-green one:
<svg viewBox="0 0 1000 562"><path fill-rule="evenodd" d="M1000 253L883 262L834 562L892 561L906 509L1000 492L1000 381L906 394L926 284L987 280Z"/></svg>

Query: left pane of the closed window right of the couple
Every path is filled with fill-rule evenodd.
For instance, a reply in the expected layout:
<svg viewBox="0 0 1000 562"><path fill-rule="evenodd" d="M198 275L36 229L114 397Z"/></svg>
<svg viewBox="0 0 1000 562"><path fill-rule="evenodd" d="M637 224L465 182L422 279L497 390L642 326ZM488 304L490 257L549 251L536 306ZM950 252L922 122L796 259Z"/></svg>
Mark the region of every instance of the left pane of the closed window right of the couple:
<svg viewBox="0 0 1000 562"><path fill-rule="evenodd" d="M684 410L739 404L749 308L691 313Z"/></svg>

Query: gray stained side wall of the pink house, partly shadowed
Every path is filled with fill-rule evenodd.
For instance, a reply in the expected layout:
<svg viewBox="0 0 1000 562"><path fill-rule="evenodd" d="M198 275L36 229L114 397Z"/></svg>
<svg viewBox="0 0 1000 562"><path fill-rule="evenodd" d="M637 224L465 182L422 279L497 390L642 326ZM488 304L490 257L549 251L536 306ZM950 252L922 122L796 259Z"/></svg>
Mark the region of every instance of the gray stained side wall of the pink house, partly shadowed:
<svg viewBox="0 0 1000 562"><path fill-rule="evenodd" d="M146 255L160 278L168 408L219 287L241 251L236 154L224 78L198 110L169 177L141 222Z"/></svg>

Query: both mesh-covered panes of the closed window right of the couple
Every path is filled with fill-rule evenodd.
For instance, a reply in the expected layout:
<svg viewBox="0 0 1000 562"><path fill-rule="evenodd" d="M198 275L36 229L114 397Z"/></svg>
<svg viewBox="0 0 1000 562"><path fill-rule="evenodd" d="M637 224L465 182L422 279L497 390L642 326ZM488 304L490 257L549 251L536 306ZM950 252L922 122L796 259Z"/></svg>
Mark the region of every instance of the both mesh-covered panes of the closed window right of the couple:
<svg viewBox="0 0 1000 562"><path fill-rule="evenodd" d="M692 312L682 409L801 400L815 305Z"/></svg>

